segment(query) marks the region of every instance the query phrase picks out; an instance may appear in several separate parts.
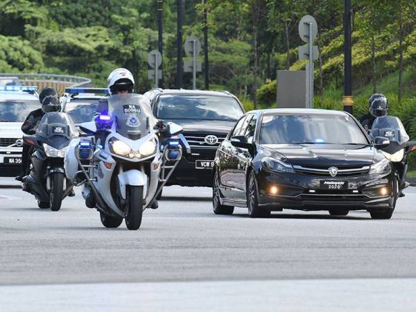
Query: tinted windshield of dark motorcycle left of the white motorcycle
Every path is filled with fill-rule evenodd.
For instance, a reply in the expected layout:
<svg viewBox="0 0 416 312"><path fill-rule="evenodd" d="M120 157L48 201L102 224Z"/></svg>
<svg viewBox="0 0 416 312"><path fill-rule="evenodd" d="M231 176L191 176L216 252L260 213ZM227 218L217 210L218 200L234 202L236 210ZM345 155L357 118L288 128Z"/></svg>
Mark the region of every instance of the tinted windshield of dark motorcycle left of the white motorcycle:
<svg viewBox="0 0 416 312"><path fill-rule="evenodd" d="M63 112L49 112L42 117L36 134L42 136L46 144L54 141L55 144L53 145L61 146L74 137L78 137L79 132L67 114Z"/></svg>

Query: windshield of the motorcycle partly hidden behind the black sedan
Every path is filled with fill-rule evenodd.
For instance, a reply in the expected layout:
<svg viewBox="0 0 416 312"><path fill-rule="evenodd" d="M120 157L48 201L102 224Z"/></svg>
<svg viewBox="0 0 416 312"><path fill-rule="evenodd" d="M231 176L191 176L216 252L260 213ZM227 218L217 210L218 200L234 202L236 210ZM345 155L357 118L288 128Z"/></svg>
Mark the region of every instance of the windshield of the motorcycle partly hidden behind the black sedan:
<svg viewBox="0 0 416 312"><path fill-rule="evenodd" d="M403 123L396 116L376 118L370 133L373 138L386 137L392 142L397 142L399 145L404 144L410 139Z"/></svg>

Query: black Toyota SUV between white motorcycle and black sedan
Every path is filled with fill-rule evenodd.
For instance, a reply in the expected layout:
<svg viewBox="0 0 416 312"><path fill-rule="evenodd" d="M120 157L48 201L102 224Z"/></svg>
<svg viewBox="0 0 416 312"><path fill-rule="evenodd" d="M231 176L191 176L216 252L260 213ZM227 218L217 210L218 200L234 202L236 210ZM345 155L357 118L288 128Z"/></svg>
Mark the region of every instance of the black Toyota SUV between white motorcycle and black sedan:
<svg viewBox="0 0 416 312"><path fill-rule="evenodd" d="M216 150L244 114L239 99L229 92L184 89L153 89L145 95L157 119L184 128L183 157L166 185L211 187Z"/></svg>

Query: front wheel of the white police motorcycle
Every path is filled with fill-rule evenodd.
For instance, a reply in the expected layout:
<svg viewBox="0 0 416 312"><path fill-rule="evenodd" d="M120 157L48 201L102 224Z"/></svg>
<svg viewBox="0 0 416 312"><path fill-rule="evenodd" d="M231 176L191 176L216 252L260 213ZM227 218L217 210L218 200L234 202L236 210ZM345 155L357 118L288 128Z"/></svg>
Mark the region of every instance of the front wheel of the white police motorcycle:
<svg viewBox="0 0 416 312"><path fill-rule="evenodd" d="M126 205L128 208L125 216L125 225L128 229L139 229L143 216L143 187L128 187Z"/></svg>

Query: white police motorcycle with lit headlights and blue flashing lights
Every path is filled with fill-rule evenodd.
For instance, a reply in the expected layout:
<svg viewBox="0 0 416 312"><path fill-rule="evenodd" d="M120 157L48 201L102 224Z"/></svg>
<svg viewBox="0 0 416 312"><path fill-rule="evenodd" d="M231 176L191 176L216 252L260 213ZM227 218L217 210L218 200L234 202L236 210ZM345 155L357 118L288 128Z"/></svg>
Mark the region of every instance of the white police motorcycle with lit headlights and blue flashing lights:
<svg viewBox="0 0 416 312"><path fill-rule="evenodd" d="M100 211L105 227L139 229L144 209L152 205L182 157L175 135L182 128L158 122L147 98L121 94L108 98L108 111L81 123L86 137L71 142L65 170L73 184L85 184L89 208ZM159 140L171 137L162 148ZM165 169L172 170L165 176Z"/></svg>

